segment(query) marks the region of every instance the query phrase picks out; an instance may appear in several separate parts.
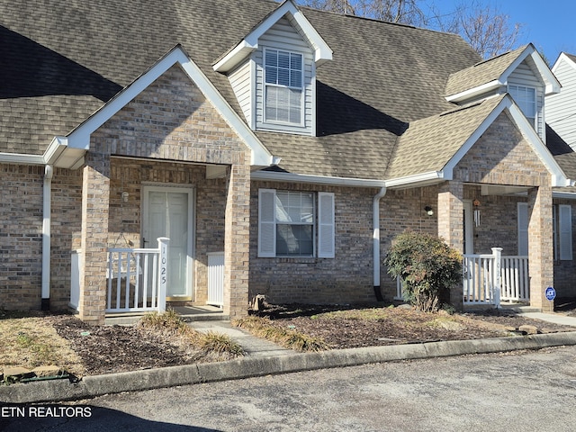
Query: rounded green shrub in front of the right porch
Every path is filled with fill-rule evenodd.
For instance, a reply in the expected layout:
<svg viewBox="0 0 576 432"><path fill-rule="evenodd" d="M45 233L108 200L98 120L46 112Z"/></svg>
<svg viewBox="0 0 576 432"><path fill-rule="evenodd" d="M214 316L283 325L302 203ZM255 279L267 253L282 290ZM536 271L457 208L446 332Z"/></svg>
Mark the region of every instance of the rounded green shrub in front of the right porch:
<svg viewBox="0 0 576 432"><path fill-rule="evenodd" d="M443 238L406 231L384 258L388 273L400 277L406 300L420 311L437 311L440 298L462 281L462 255ZM449 298L449 297L448 297Z"/></svg>

